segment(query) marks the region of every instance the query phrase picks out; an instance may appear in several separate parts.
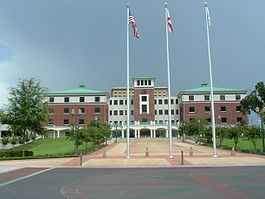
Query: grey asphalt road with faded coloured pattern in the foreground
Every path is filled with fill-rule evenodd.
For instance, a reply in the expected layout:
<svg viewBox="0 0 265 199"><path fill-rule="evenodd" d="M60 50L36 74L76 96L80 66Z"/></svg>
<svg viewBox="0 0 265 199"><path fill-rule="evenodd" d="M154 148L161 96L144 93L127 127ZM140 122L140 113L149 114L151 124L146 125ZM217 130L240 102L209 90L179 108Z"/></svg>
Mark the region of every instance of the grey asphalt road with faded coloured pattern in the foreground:
<svg viewBox="0 0 265 199"><path fill-rule="evenodd" d="M56 168L0 186L0 199L264 198L265 167Z"/></svg>

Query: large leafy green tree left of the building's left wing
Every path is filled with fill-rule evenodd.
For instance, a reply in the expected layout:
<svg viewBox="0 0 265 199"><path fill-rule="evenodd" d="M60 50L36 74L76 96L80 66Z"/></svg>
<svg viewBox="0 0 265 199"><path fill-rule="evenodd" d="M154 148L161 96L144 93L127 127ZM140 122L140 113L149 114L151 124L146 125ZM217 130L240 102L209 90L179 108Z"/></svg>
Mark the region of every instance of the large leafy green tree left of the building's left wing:
<svg viewBox="0 0 265 199"><path fill-rule="evenodd" d="M47 122L48 104L45 101L47 89L41 87L34 78L19 80L10 91L7 118L10 130L25 143L31 133L44 134L43 125Z"/></svg>

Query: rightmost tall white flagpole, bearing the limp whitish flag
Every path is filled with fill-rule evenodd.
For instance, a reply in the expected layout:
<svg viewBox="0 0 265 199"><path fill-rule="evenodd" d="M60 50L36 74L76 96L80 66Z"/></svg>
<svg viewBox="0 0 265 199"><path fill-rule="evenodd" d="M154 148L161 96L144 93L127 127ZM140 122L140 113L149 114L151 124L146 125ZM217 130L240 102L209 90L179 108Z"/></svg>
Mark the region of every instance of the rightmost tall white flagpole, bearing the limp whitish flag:
<svg viewBox="0 0 265 199"><path fill-rule="evenodd" d="M214 113L214 96L213 96L213 77L212 77L212 60L211 60L211 45L210 45L210 31L209 23L210 16L208 11L208 3L204 3L205 6L205 16L206 16L206 29L207 29L207 45L208 45L208 61L209 61L209 71L210 71L210 86L211 86L211 110L212 110L212 134L213 134L213 157L217 157L216 152L216 133L215 133L215 113Z"/></svg>

